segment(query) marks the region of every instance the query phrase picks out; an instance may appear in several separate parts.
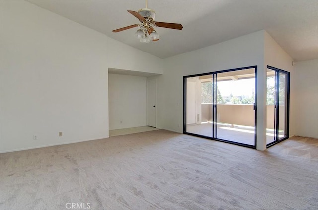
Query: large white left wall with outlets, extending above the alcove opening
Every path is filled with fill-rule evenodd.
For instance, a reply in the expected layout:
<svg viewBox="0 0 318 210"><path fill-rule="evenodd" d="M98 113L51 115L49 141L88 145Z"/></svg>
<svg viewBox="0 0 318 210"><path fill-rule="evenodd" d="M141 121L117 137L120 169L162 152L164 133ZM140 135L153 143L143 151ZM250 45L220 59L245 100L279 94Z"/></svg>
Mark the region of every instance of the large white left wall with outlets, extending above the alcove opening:
<svg viewBox="0 0 318 210"><path fill-rule="evenodd" d="M161 59L110 40L29 2L1 1L1 152L108 137L108 68L150 59L162 73Z"/></svg>

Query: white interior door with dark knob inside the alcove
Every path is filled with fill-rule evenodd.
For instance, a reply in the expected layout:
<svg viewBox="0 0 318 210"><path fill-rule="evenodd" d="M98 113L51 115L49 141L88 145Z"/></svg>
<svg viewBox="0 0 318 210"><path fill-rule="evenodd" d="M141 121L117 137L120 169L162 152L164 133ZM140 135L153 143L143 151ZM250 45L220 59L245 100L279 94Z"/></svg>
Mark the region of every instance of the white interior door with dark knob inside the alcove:
<svg viewBox="0 0 318 210"><path fill-rule="evenodd" d="M147 125L156 127L156 80L147 80Z"/></svg>

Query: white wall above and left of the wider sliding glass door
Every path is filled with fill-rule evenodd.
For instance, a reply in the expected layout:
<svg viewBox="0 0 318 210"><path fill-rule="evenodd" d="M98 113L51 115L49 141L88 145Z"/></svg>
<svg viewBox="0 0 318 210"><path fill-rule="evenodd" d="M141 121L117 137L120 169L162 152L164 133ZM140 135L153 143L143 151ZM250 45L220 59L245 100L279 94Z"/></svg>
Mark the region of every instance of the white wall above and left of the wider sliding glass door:
<svg viewBox="0 0 318 210"><path fill-rule="evenodd" d="M182 132L183 76L253 65L263 71L263 36L259 31L164 59L157 77L158 127Z"/></svg>

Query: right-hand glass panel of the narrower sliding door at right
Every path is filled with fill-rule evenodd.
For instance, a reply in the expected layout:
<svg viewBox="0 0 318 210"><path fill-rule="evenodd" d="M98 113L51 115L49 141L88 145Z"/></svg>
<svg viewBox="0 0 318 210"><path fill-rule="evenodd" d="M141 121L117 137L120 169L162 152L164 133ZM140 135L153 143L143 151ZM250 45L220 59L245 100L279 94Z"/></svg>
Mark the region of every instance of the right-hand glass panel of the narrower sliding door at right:
<svg viewBox="0 0 318 210"><path fill-rule="evenodd" d="M278 106L279 106L279 123L278 123L278 139L286 137L286 112L287 112L287 74L279 72L279 90L278 90Z"/></svg>

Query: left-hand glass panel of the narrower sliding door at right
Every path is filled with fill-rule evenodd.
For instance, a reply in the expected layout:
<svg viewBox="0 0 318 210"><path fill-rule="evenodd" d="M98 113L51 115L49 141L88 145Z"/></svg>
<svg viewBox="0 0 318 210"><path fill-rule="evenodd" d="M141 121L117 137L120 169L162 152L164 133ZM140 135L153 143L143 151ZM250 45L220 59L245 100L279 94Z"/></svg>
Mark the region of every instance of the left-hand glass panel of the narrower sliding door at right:
<svg viewBox="0 0 318 210"><path fill-rule="evenodd" d="M267 110L266 110L266 144L276 140L275 131L275 101L276 101L276 77L275 71L267 69Z"/></svg>

